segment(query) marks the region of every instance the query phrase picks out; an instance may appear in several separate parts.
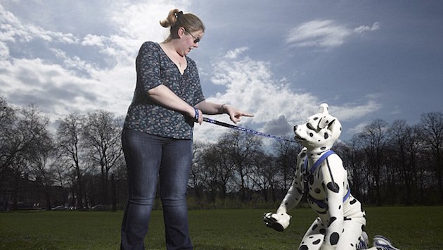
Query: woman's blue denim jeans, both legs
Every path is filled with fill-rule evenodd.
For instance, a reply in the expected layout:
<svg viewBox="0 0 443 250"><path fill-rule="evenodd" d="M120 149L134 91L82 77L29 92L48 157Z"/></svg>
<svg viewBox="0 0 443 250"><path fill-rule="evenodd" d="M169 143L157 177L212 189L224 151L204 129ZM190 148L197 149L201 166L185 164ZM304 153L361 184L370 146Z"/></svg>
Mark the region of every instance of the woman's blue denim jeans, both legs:
<svg viewBox="0 0 443 250"><path fill-rule="evenodd" d="M158 180L166 247L193 249L188 230L186 187L192 163L192 140L123 130L129 201L122 222L121 249L144 249Z"/></svg>

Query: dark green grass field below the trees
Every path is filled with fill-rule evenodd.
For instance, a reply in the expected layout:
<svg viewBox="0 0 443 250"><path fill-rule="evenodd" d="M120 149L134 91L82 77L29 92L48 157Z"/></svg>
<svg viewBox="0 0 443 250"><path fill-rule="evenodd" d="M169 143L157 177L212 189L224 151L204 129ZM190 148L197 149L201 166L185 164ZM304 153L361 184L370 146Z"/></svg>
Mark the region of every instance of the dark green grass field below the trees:
<svg viewBox="0 0 443 250"><path fill-rule="evenodd" d="M443 249L443 207L366 208L370 239L382 234L406 249ZM189 211L196 250L297 249L314 220L309 208L291 211L291 225L276 232L262 223L271 209ZM27 211L0 213L0 249L119 249L122 212ZM146 249L165 249L162 211L153 211Z"/></svg>

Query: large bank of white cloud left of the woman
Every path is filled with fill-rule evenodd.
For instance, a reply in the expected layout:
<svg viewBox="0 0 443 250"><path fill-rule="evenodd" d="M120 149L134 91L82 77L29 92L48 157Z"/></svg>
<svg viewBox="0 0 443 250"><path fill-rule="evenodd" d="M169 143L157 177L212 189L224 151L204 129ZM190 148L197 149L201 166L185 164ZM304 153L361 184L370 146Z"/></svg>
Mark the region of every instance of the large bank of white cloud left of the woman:
<svg viewBox="0 0 443 250"><path fill-rule="evenodd" d="M35 103L42 113L55 120L72 111L87 112L108 108L108 104L121 104L120 101L115 101L115 97L121 94L130 95L131 91L124 91L120 86L124 86L127 81L135 82L133 62L121 56L117 50L122 47L112 44L107 37L87 35L79 39L70 33L53 32L23 23L1 5L0 13L0 86L1 94L11 104L25 106ZM31 48L33 41L39 41L41 51L30 50L31 53L19 58L11 56L11 46ZM131 64L131 70L124 74L119 70L124 66L118 69L100 68L96 62L84 58L88 54L73 53L72 49L84 51L80 41L84 42L84 46L94 44L98 52L106 52L104 60L108 58L109 61L114 61L116 67L121 65L119 59L125 59L123 65ZM114 53L111 54L110 51ZM34 56L35 54L39 56ZM103 71L105 73L101 73ZM117 75L117 72L121 75ZM112 87L111 84L118 86ZM116 92L117 89L120 92ZM127 99L130 100L130 97ZM129 104L124 104L125 108L127 105Z"/></svg>

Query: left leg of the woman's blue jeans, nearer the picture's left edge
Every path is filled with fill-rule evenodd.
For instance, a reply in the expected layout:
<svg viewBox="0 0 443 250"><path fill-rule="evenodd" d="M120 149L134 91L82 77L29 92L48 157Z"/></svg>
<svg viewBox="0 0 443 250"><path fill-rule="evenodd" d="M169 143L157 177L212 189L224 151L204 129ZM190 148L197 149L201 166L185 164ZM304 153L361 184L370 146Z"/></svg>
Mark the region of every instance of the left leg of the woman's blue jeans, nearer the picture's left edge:
<svg viewBox="0 0 443 250"><path fill-rule="evenodd" d="M121 249L144 249L150 211L162 155L158 137L133 130L123 130L122 147L127 163L129 200L124 210Z"/></svg>

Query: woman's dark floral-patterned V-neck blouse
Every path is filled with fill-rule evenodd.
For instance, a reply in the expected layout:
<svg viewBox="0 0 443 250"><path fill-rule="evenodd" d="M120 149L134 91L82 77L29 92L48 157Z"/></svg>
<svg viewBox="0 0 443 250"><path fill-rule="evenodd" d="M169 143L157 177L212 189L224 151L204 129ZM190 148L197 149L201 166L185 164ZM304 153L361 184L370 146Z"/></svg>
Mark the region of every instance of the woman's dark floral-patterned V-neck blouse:
<svg viewBox="0 0 443 250"><path fill-rule="evenodd" d="M191 106L204 101L197 65L187 56L186 61L188 66L181 75L160 44L145 42L141 45L136 58L136 88L124 128L161 137L192 139L193 118L156 104L147 94L149 89L165 85Z"/></svg>

